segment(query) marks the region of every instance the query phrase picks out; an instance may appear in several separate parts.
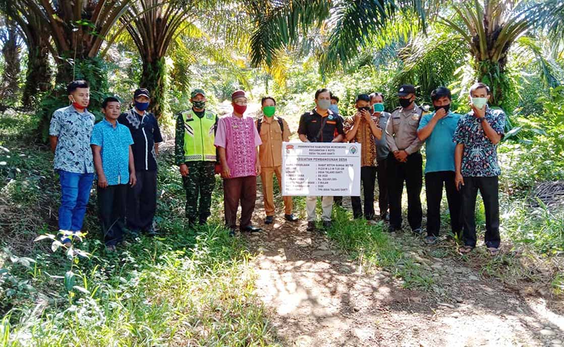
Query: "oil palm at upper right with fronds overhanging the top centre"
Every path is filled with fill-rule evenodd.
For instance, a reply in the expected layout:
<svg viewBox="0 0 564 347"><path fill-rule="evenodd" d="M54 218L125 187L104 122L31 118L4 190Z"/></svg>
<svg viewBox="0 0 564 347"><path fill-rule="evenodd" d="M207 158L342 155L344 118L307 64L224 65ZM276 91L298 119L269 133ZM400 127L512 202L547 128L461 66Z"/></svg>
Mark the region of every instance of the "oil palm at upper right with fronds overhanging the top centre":
<svg viewBox="0 0 564 347"><path fill-rule="evenodd" d="M456 30L473 56L475 78L492 86L492 103L503 106L503 91L509 84L505 72L512 44L535 25L556 34L564 33L563 0L250 0L257 3L251 41L254 65L270 65L277 52L295 45L312 27L328 28L321 50L321 72L346 65L359 52L375 45L377 33L401 13L418 21L439 19ZM438 16L450 12L451 16ZM560 38L562 37L559 36Z"/></svg>

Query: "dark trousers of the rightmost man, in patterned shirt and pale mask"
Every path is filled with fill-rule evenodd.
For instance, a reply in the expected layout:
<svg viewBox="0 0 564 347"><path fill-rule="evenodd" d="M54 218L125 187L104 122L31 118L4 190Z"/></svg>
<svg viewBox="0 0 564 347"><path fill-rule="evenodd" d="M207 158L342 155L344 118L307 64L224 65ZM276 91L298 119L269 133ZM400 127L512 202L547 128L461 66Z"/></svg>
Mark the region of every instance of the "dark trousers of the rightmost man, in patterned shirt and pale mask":
<svg viewBox="0 0 564 347"><path fill-rule="evenodd" d="M464 225L464 244L476 246L475 208L478 190L484 201L486 212L486 247L499 247L499 182L494 177L464 177L462 195L462 220Z"/></svg>

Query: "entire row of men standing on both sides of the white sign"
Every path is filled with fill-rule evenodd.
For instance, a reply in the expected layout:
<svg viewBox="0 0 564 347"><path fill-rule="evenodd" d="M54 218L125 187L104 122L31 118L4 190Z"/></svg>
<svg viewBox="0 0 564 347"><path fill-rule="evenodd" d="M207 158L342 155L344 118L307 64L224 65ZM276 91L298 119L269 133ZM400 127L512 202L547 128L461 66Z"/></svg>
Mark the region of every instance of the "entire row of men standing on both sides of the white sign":
<svg viewBox="0 0 564 347"><path fill-rule="evenodd" d="M51 146L55 169L61 183L59 229L61 241L80 232L96 173L98 210L104 241L114 250L123 241L124 232L134 236L140 231L155 234L156 153L162 142L156 118L146 111L149 92L138 89L134 107L120 114L117 98L102 104L104 120L94 125L87 111L89 89L85 81L68 86L72 105L57 110L51 121ZM497 199L496 145L504 135L503 111L487 106L489 88L481 83L470 89L470 107L466 115L450 110L452 96L446 87L431 94L434 112L428 113L415 103L416 90L403 85L398 91L400 107L384 111L384 95L360 94L354 116L338 114L338 98L327 89L315 93L315 107L303 113L298 135L302 142L361 143L360 196L352 196L354 218L375 223L374 191L378 183L379 217L389 221L389 231L402 229L402 194L407 188L407 219L411 230L422 233L422 155L425 143L425 185L427 197L427 236L425 243L438 240L440 201L446 189L452 235L462 236L461 253L476 245L475 201L479 190L486 210L485 242L491 254L497 254L499 203ZM206 108L206 93L191 93L192 108L180 112L176 120L175 162L186 190L186 217L191 226L203 225L210 216L215 174L223 178L224 218L231 235L237 228L237 209L241 205L239 230L259 232L251 223L257 197L257 176L261 176L265 203L265 223L274 222L274 175L281 184L282 142L289 141L287 122L279 117L276 100L261 100L262 115L257 119L245 114L247 96L243 90L231 95L233 111L218 117ZM292 197L284 196L284 217L296 222ZM316 230L316 196L307 196L307 229ZM321 198L323 228L331 227L333 196ZM387 212L389 208L389 214Z"/></svg>

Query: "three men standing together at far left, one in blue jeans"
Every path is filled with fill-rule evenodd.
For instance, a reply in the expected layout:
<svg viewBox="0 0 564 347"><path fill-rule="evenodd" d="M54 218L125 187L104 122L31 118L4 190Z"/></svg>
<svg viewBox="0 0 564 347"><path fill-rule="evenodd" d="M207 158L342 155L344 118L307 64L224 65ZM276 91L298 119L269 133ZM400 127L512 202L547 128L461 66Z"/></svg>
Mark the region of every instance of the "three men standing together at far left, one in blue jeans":
<svg viewBox="0 0 564 347"><path fill-rule="evenodd" d="M67 86L70 106L53 113L49 129L54 168L59 173L61 205L59 236L70 247L80 239L92 182L96 178L98 215L108 251L114 251L129 231L155 235L157 202L158 123L147 112L149 91L137 89L133 107L121 112L119 99L102 102L104 119L94 124L87 110L90 88L86 81Z"/></svg>

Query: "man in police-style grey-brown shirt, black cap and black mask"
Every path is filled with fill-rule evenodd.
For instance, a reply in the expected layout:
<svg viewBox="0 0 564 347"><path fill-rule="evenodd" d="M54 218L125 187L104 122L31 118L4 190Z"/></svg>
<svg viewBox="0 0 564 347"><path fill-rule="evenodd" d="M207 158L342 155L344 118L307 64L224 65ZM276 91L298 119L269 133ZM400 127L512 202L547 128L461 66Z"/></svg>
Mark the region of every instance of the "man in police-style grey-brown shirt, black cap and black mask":
<svg viewBox="0 0 564 347"><path fill-rule="evenodd" d="M415 104L415 87L403 85L398 91L400 107L386 124L386 142L390 148L387 158L390 197L390 232L402 229L403 182L407 188L407 220L415 234L421 234L421 187L423 159L419 152L422 143L417 127L426 112Z"/></svg>

